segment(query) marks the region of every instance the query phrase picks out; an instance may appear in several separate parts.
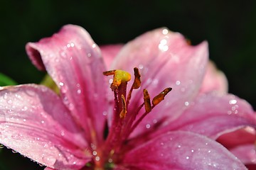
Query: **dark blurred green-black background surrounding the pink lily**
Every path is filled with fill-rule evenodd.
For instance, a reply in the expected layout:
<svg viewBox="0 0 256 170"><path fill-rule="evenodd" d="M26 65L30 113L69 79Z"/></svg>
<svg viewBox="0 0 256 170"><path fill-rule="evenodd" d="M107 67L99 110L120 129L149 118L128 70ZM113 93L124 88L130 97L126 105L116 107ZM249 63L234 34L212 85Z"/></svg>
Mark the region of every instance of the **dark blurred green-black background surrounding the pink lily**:
<svg viewBox="0 0 256 170"><path fill-rule="evenodd" d="M0 72L18 84L38 83L44 75L28 60L26 42L67 23L84 27L98 45L127 42L166 26L193 45L208 40L210 60L225 72L230 93L256 108L256 1L9 0L0 2L0 22ZM0 149L0 169L43 167Z"/></svg>

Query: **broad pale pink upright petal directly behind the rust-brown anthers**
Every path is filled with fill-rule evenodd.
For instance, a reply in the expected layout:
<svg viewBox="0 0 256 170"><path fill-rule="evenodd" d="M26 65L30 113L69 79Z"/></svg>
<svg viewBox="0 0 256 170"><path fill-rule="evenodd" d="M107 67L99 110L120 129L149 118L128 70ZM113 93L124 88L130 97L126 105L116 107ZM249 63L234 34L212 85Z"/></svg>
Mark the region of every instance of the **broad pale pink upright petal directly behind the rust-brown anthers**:
<svg viewBox="0 0 256 170"><path fill-rule="evenodd" d="M138 67L142 74L142 87L132 94L131 113L143 103L143 89L148 89L153 98L166 87L173 88L165 101L146 116L134 135L146 130L147 124L164 119L168 123L183 112L184 103L193 101L198 94L207 61L207 42L191 46L181 34L165 28L145 33L124 45L112 64L113 69L132 72Z"/></svg>

